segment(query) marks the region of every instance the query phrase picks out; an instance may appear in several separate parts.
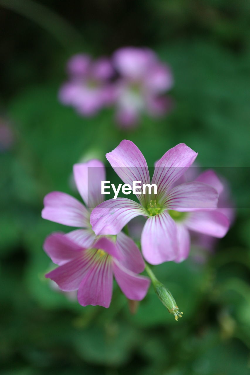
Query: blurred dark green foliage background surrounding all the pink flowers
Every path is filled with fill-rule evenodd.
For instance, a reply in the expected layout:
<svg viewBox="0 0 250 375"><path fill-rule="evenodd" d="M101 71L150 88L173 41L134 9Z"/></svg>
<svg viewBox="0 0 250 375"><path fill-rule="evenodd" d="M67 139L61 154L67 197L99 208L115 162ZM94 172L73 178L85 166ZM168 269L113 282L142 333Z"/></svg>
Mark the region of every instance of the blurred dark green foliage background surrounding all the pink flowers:
<svg viewBox="0 0 250 375"><path fill-rule="evenodd" d="M1 374L248 373L249 15L243 0L0 0L0 116L14 134L0 154ZM98 57L126 45L148 46L170 64L172 113L125 132L112 110L81 118L59 104L73 53ZM83 308L44 278L45 236L69 230L41 219L44 195L77 196L72 165L90 155L105 161L123 138L149 165L185 142L200 165L235 167L227 177L236 220L215 253L154 267L184 312L178 322L152 287L131 315L119 288L110 309Z"/></svg>

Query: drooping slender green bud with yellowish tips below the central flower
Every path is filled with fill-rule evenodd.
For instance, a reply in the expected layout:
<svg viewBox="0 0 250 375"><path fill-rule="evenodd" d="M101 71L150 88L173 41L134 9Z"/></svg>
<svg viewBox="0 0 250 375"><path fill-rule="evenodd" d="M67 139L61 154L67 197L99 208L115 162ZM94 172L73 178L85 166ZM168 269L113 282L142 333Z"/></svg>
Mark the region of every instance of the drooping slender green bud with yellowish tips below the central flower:
<svg viewBox="0 0 250 375"><path fill-rule="evenodd" d="M146 272L148 273L148 276L150 277L155 293L157 294L157 297L160 299L160 301L163 303L163 305L168 309L170 314L173 314L175 316L175 320L178 320L178 318L181 318L183 312L179 312L179 308L176 305L175 299L173 298L170 291L164 287L164 285L156 278L154 272L149 267L148 264L146 264L145 267Z"/></svg>

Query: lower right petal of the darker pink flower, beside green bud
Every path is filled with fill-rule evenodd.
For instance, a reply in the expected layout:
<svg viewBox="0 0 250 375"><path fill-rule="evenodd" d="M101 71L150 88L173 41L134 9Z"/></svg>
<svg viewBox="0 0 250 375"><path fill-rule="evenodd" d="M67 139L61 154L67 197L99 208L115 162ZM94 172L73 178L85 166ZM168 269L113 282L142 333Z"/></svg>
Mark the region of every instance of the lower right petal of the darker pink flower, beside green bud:
<svg viewBox="0 0 250 375"><path fill-rule="evenodd" d="M113 261L113 272L117 284L128 299L140 301L146 296L150 285L148 278L126 269L118 261Z"/></svg>

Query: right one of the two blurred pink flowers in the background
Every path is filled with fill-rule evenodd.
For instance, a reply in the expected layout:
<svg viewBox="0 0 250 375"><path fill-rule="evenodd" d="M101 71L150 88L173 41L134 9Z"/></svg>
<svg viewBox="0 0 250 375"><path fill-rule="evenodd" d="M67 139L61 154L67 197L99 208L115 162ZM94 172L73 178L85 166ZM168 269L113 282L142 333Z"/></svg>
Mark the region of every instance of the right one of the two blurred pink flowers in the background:
<svg viewBox="0 0 250 375"><path fill-rule="evenodd" d="M113 55L113 64L121 78L117 81L117 121L133 126L143 112L164 114L171 107L170 98L162 96L173 85L170 68L159 62L148 48L125 47Z"/></svg>

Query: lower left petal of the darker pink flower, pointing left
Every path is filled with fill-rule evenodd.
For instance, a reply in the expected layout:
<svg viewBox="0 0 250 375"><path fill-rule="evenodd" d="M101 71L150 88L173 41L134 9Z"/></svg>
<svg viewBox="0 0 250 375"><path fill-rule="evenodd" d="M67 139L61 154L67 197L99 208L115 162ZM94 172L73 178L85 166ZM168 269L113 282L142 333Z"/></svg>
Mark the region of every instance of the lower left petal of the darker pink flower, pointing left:
<svg viewBox="0 0 250 375"><path fill-rule="evenodd" d="M55 270L47 273L45 278L49 278L56 282L59 288L65 292L77 290L79 285L93 264L95 254L84 252L79 257L59 266Z"/></svg>

